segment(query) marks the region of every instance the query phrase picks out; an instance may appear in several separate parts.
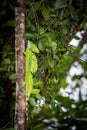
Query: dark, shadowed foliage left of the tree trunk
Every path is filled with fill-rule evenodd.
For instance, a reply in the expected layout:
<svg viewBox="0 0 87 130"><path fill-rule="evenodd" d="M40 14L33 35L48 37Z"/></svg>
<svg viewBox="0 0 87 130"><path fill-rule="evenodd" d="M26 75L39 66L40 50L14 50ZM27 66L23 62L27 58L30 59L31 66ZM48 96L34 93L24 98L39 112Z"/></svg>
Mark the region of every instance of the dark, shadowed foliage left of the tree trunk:
<svg viewBox="0 0 87 130"><path fill-rule="evenodd" d="M0 129L13 127L15 91L14 3L0 1Z"/></svg>

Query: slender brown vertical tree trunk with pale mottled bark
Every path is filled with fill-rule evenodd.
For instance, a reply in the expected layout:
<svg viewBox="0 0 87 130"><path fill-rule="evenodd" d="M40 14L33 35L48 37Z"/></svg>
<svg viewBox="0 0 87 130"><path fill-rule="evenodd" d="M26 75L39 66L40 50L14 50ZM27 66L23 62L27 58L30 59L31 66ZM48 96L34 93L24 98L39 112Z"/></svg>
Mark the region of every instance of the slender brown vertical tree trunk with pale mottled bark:
<svg viewBox="0 0 87 130"><path fill-rule="evenodd" d="M17 0L15 10L15 56L16 56L16 106L15 106L15 130L26 129L26 93L22 87L24 82L24 55L25 49L25 0Z"/></svg>

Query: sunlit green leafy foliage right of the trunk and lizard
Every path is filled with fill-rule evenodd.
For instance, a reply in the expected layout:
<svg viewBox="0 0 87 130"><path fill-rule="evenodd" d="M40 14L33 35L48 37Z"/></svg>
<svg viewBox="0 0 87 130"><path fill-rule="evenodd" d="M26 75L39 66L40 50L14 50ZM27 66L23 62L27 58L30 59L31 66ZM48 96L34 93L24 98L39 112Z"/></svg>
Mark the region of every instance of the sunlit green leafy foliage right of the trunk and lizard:
<svg viewBox="0 0 87 130"><path fill-rule="evenodd" d="M68 120L68 117L72 122L78 117L76 109L80 101L75 103L74 100L63 97L58 92L61 88L67 87L66 75L73 62L77 60L80 64L85 64L79 59L81 48L69 45L71 39L77 39L78 30L87 28L87 12L83 11L85 5L86 1L82 0L78 0L78 2L68 0L26 2L25 38L33 41L40 50L39 69L35 78L42 81L41 95L46 99L39 115L31 112L30 129L45 128L43 121L38 119L40 117L56 117L61 122L65 118ZM76 109L72 108L72 104ZM86 103L84 104L86 107ZM36 111L38 111L37 109ZM84 110L84 112L86 111Z"/></svg>

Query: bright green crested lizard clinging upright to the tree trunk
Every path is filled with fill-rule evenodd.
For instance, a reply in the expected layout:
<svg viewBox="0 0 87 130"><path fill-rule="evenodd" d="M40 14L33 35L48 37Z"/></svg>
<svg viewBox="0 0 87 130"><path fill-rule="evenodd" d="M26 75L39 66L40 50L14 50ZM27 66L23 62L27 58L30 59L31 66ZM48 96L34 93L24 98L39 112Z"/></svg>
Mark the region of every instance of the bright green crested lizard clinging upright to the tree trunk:
<svg viewBox="0 0 87 130"><path fill-rule="evenodd" d="M25 87L26 87L26 100L28 101L31 94L38 94L40 89L34 89L35 84L40 84L41 82L33 83L33 73L37 71L38 64L37 58L34 53L39 53L39 49L31 41L28 41L26 50L22 50L25 55Z"/></svg>

